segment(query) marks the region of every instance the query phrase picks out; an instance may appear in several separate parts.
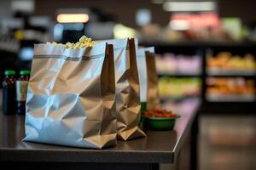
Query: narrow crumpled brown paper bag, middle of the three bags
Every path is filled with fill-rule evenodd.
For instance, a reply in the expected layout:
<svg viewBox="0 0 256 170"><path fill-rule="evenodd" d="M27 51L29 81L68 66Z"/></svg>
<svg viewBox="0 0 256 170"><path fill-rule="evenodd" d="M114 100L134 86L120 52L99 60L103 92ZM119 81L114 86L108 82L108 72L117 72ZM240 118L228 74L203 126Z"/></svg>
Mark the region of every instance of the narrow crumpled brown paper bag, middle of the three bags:
<svg viewBox="0 0 256 170"><path fill-rule="evenodd" d="M145 137L145 133L138 127L141 104L136 59L137 40L125 38L106 42L113 44L118 139Z"/></svg>

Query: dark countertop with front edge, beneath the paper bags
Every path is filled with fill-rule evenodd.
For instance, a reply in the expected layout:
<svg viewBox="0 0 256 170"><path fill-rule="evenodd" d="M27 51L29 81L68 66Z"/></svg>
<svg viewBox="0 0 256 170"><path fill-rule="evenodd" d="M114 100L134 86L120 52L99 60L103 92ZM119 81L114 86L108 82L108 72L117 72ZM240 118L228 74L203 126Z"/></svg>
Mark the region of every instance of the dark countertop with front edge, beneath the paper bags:
<svg viewBox="0 0 256 170"><path fill-rule="evenodd" d="M22 142L24 116L4 116L0 111L0 161L43 162L138 162L173 163L188 136L199 102L180 113L173 131L148 131L147 138L118 141L104 150Z"/></svg>

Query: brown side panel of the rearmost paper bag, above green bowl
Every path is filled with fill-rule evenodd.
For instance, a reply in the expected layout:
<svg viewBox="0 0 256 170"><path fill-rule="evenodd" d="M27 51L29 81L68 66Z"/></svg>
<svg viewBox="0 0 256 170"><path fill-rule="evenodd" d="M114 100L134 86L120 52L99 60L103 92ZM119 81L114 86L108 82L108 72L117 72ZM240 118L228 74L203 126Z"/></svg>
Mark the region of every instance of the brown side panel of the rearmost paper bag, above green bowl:
<svg viewBox="0 0 256 170"><path fill-rule="evenodd" d="M146 65L148 75L147 110L160 108L160 97L158 93L158 76L155 66L154 47L144 48L146 54Z"/></svg>

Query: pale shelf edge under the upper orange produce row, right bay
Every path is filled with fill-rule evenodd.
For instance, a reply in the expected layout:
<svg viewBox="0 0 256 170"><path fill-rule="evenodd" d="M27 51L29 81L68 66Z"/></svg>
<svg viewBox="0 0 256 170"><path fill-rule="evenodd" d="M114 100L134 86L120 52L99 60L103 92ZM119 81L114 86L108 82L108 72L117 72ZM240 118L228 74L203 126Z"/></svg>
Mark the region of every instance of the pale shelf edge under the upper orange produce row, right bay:
<svg viewBox="0 0 256 170"><path fill-rule="evenodd" d="M243 77L253 77L256 76L255 70L246 69L218 69L218 68L208 68L208 76L243 76Z"/></svg>

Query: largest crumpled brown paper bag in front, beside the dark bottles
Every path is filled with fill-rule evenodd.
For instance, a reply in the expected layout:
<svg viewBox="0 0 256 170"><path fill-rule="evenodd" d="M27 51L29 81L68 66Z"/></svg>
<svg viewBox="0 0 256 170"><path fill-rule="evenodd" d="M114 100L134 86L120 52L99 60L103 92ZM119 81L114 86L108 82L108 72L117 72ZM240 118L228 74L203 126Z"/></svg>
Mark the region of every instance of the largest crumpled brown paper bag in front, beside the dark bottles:
<svg viewBox="0 0 256 170"><path fill-rule="evenodd" d="M116 145L113 46L36 44L26 99L26 141L101 149Z"/></svg>

